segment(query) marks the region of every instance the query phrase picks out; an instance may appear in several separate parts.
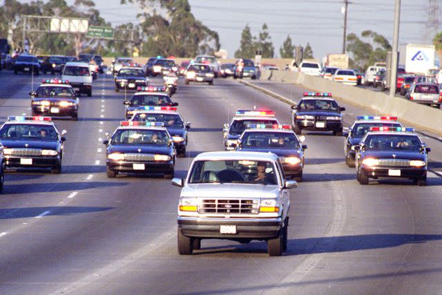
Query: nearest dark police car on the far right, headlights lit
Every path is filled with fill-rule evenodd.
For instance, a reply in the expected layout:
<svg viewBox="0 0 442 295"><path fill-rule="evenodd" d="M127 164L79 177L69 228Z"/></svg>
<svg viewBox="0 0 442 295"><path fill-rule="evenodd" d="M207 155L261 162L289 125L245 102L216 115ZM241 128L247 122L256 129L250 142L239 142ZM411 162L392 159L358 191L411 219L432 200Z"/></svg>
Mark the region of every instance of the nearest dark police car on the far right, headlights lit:
<svg viewBox="0 0 442 295"><path fill-rule="evenodd" d="M408 178L427 184L429 147L412 128L371 127L356 150L356 175L360 184L369 178Z"/></svg>

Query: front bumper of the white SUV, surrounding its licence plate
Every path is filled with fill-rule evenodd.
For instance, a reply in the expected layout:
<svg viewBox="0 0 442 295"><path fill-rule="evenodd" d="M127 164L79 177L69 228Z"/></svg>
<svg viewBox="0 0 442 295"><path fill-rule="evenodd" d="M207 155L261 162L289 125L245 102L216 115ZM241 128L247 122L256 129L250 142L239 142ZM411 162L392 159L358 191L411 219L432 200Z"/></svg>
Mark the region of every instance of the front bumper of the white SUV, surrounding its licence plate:
<svg viewBox="0 0 442 295"><path fill-rule="evenodd" d="M178 216L178 229L184 236L195 238L255 238L278 236L282 228L281 218L195 218ZM236 234L221 234L222 225L236 227Z"/></svg>

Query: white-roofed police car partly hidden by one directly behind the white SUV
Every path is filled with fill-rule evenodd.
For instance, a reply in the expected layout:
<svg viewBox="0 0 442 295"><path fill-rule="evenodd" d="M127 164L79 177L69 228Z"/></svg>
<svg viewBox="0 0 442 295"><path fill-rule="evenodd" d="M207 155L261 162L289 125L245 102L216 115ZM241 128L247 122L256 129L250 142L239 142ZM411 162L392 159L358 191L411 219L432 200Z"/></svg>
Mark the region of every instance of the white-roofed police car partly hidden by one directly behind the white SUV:
<svg viewBox="0 0 442 295"><path fill-rule="evenodd" d="M279 124L273 111L238 110L230 124L224 124L222 133L224 136L224 149L233 151L236 149L238 138L246 130L249 124L273 125Z"/></svg>

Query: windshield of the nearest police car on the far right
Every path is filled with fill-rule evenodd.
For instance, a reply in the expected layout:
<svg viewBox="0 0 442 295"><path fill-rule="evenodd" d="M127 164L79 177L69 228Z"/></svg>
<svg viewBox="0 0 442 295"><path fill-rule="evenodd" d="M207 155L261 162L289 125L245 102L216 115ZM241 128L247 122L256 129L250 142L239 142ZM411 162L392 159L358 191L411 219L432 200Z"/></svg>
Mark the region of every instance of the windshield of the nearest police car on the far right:
<svg viewBox="0 0 442 295"><path fill-rule="evenodd" d="M416 135L367 135L365 149L372 151L420 151L421 140Z"/></svg>

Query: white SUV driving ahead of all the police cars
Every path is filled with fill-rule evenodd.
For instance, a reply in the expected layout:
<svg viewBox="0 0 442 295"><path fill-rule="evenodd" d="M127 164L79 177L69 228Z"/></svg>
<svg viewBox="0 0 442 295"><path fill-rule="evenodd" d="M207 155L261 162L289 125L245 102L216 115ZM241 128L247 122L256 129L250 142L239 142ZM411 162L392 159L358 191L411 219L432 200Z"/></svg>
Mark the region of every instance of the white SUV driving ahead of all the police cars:
<svg viewBox="0 0 442 295"><path fill-rule="evenodd" d="M178 204L177 246L180 255L201 248L202 239L248 243L267 241L269 256L287 249L289 189L282 164L273 153L222 151L200 153L182 187Z"/></svg>

